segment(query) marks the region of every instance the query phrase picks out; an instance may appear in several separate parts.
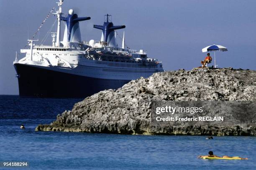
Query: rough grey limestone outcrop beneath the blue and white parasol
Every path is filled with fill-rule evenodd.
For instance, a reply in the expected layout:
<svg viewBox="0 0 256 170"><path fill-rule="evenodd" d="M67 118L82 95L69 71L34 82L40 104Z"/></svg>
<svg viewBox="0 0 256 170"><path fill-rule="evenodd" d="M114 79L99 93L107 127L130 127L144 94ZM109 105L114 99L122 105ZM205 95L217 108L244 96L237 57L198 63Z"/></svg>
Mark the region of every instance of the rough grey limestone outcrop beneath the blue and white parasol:
<svg viewBox="0 0 256 170"><path fill-rule="evenodd" d="M232 68L178 70L133 80L117 90L105 90L85 98L71 111L57 116L38 131L119 133L143 135L251 135L256 136L256 114L243 123L186 125L165 128L151 125L153 100L255 101L256 71ZM232 115L227 115L232 117ZM234 117L234 116L233 116ZM241 117L241 116L240 116ZM239 122L237 118L236 121Z"/></svg>

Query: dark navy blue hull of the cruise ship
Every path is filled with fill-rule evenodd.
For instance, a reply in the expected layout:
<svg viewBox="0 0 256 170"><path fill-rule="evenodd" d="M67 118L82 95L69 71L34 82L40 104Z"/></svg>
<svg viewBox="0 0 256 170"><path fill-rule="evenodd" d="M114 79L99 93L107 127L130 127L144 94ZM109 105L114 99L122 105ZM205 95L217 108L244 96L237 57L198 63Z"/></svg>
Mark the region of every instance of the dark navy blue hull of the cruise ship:
<svg viewBox="0 0 256 170"><path fill-rule="evenodd" d="M130 81L85 77L19 63L14 67L20 97L85 98Z"/></svg>

